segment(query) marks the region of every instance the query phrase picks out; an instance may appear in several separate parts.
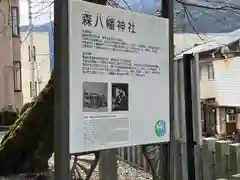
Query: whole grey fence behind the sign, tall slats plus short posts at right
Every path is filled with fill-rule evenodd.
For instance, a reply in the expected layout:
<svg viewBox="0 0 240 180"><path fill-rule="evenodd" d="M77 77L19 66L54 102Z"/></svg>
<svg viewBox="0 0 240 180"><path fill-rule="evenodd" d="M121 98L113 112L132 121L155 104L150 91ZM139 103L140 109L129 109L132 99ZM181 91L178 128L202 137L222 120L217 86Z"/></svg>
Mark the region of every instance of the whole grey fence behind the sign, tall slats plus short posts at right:
<svg viewBox="0 0 240 180"><path fill-rule="evenodd" d="M185 95L184 95L184 71L183 60L174 62L174 123L172 133L172 150L170 152L173 160L174 180L187 180L187 146L186 146L186 117L185 117ZM195 145L196 180L240 180L234 173L239 170L239 145L231 144L229 141L217 141L216 139L204 139L202 141L201 113L200 113L200 83L199 83L199 59L195 55L192 60L192 105L193 105L193 133ZM149 171L149 167L139 147L120 148L118 155L129 164ZM160 160L162 160L160 154ZM237 159L236 161L234 160ZM163 171L163 164L160 163L159 171ZM163 164L163 165L162 165ZM237 167L237 169L235 169ZM223 171L223 172L222 172ZM162 172L158 173L159 175ZM240 176L240 175L238 175ZM191 180L191 179L190 179Z"/></svg>

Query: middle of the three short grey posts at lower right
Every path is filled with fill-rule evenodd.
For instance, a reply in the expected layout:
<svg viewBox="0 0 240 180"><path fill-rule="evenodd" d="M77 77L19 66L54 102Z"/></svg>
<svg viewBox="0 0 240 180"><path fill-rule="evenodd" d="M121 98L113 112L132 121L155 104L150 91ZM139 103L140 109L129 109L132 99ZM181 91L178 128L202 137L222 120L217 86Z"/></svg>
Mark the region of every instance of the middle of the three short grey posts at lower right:
<svg viewBox="0 0 240 180"><path fill-rule="evenodd" d="M216 142L216 178L229 177L229 145L231 141Z"/></svg>

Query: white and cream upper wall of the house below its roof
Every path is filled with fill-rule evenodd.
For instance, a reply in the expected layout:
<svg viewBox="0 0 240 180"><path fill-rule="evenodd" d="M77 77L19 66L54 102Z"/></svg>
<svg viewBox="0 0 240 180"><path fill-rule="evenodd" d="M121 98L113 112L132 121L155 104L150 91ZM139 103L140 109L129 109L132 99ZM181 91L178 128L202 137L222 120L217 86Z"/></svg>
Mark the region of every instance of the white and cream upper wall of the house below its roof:
<svg viewBox="0 0 240 180"><path fill-rule="evenodd" d="M220 106L240 106L240 57L213 61L214 80L201 64L200 98L216 98Z"/></svg>

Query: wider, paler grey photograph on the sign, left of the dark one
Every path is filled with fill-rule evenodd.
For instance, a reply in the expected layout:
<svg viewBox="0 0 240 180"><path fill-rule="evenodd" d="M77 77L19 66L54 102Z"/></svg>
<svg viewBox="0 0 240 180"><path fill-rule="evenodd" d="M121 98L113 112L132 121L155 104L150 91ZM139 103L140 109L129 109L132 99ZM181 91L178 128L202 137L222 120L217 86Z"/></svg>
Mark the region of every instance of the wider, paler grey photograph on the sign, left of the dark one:
<svg viewBox="0 0 240 180"><path fill-rule="evenodd" d="M83 112L107 112L107 101L107 83L83 82Z"/></svg>

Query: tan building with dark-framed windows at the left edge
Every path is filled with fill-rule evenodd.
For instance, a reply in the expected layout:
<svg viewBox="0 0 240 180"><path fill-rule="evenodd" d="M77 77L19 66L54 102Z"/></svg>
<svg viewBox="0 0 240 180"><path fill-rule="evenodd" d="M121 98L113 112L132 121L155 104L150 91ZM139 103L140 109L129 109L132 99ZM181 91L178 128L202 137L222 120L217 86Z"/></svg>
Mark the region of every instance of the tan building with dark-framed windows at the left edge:
<svg viewBox="0 0 240 180"><path fill-rule="evenodd" d="M20 110L23 106L21 84L21 43L19 0L0 1L0 111Z"/></svg>

